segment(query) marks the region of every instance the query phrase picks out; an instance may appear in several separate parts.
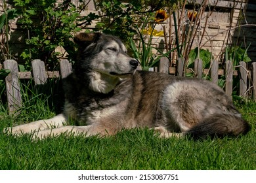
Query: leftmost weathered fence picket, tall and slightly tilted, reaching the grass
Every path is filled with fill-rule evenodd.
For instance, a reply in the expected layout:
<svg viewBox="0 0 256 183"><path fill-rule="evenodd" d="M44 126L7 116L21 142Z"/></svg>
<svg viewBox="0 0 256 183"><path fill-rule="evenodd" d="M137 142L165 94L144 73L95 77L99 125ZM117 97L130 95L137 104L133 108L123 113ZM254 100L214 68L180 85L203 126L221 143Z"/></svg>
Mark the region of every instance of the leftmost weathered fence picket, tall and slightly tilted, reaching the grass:
<svg viewBox="0 0 256 183"><path fill-rule="evenodd" d="M18 114L16 111L22 107L20 84L18 82L18 63L13 59L7 59L3 62L3 67L11 70L11 73L5 78L9 114Z"/></svg>

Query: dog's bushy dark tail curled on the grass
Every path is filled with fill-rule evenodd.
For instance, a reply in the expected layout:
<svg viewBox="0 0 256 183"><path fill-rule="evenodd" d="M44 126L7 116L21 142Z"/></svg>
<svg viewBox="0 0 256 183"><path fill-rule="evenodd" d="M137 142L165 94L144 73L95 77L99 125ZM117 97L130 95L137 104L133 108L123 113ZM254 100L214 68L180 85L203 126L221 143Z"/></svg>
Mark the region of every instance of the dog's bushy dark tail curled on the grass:
<svg viewBox="0 0 256 183"><path fill-rule="evenodd" d="M206 137L225 137L244 135L249 131L249 124L242 118L229 114L215 114L205 118L187 131L193 139Z"/></svg>

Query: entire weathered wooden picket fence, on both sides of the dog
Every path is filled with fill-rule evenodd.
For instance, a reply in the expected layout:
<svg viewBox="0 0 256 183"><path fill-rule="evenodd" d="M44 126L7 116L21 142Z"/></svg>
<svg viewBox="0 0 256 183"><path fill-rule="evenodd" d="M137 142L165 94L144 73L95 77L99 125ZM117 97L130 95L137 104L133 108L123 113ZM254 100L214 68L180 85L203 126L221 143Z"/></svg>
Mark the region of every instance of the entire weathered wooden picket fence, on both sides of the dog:
<svg viewBox="0 0 256 183"><path fill-rule="evenodd" d="M194 67L195 76L202 78L202 75L210 75L211 81L218 82L219 75L225 75L225 92L227 95L232 95L232 80L233 76L240 75L240 95L247 97L249 91L253 92L253 99L256 99L256 62L253 63L252 71L248 71L246 63L240 62L239 74L234 71L232 61L226 61L224 70L218 69L219 63L216 60L211 62L211 69L203 69L202 60L196 59ZM32 72L18 72L18 63L13 59L8 59L3 63L4 69L9 69L11 73L5 78L7 89L7 101L9 113L14 114L18 108L22 107L22 98L20 93L19 79L33 78L35 84L45 84L47 78L65 78L72 73L72 65L68 59L60 59L59 71L45 71L45 63L40 59L32 61ZM169 67L169 60L162 58L160 60L160 73L169 73L172 75L183 76L184 73L191 72L184 67L184 59L179 58L177 67ZM249 84L248 84L249 83Z"/></svg>

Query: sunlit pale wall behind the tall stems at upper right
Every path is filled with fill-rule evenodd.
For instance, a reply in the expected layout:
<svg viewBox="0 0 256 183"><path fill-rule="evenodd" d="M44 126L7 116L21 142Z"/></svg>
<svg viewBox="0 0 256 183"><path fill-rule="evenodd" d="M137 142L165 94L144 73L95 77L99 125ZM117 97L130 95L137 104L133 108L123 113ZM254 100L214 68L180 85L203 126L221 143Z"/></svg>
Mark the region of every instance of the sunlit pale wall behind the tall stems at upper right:
<svg viewBox="0 0 256 183"><path fill-rule="evenodd" d="M197 0L196 2L197 11L203 0ZM224 48L234 42L233 36L236 30L234 29L234 27L239 24L240 18L243 18L242 16L240 16L240 12L244 9L246 3L244 3L243 0L219 0L218 3L215 4L216 2L217 1L215 0L208 0L208 8L205 9L202 19L200 19L200 28L196 32L197 35L194 39L194 44L192 48L200 46L200 48L209 49L209 51L213 53L214 59L219 59L221 54L223 53ZM213 7L215 7L215 10L211 13ZM184 29L188 29L190 20L188 19L187 14L188 12L193 12L193 8L194 1L188 0L188 4L185 7L185 11L181 20L181 29L182 27L184 27ZM207 16L209 14L211 15L207 19ZM177 13L177 19L179 18L179 13ZM171 20L168 20L167 24L165 24L166 29L169 29L169 21L172 22L171 39L175 39L173 16L171 16ZM207 22L207 24L205 24L205 22ZM162 27L163 25L159 25L157 28L159 30L162 30ZM180 32L182 31L181 29L179 30ZM203 35L201 44L199 44L199 40L201 39L203 31L205 31L205 33ZM160 38L156 38L156 40L159 39ZM161 42L163 41L164 39L161 38Z"/></svg>

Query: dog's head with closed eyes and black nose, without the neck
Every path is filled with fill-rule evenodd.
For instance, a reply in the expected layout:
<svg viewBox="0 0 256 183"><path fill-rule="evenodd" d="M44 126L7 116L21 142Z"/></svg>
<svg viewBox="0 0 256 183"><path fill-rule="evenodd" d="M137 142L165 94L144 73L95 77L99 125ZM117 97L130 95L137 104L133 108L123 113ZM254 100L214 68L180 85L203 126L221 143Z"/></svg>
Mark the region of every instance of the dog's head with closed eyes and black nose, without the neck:
<svg viewBox="0 0 256 183"><path fill-rule="evenodd" d="M134 74L139 62L127 55L124 44L112 35L79 33L74 37L79 45L79 67L105 75Z"/></svg>

